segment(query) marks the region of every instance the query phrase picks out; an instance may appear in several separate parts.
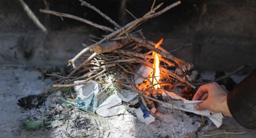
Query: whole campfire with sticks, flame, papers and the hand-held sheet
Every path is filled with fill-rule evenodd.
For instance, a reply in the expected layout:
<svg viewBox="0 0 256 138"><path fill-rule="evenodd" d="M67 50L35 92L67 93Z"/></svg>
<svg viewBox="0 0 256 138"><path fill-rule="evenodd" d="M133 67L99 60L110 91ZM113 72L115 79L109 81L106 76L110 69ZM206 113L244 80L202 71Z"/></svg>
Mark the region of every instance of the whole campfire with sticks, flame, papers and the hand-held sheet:
<svg viewBox="0 0 256 138"><path fill-rule="evenodd" d="M68 66L72 65L73 69L67 76L48 74L58 79L54 81L53 87L44 93L46 96L60 96L62 103L87 113L96 112L102 117L122 114L124 110L129 110L135 113L140 121L149 124L155 118L162 120L155 115L155 105L160 105L171 108L176 116L182 115L180 111L183 110L202 115L202 120L203 116L207 116L217 127L221 125L221 114L209 110L198 112L194 105L202 101L189 101L194 95L195 86L204 82L197 80L198 72L192 63L172 55L173 51L187 46L167 51L163 48L165 36L161 36L163 38L155 43L147 40L143 30L136 29L144 21L179 5L180 1L161 10L159 9L163 3L155 6L154 1L150 11L140 18L128 11L135 20L123 27L91 4L79 1L82 6L99 13L112 23L113 27L102 26L67 13L40 9L40 12L59 16L62 20L63 17L72 18L106 31L100 38L91 36L91 41L95 43L90 46L83 44L86 48L68 60ZM227 76L230 75L232 73ZM185 86L185 92L175 93L180 86ZM72 97L74 91L77 96ZM122 109L119 110L120 108Z"/></svg>

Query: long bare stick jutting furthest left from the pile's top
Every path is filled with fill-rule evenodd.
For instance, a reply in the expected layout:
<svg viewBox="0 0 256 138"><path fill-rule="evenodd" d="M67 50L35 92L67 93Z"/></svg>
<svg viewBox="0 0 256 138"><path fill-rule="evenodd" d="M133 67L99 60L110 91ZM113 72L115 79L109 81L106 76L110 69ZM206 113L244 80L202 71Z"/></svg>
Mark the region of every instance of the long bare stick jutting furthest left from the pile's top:
<svg viewBox="0 0 256 138"><path fill-rule="evenodd" d="M45 10L45 9L39 9L39 11L43 12L43 13L53 14L53 15L56 15L56 16L59 16L59 17L67 17L67 18L75 19L75 20L90 24L91 26L97 27L97 28L99 28L101 30L104 30L104 31L110 31L110 32L115 31L114 29L108 28L106 26L101 26L97 23L91 22L89 20L86 20L86 19L83 19L83 18L80 18L80 17L77 17L77 16L73 16L71 14L66 14L66 13L61 13L61 12L56 12L56 11L51 11L51 10Z"/></svg>

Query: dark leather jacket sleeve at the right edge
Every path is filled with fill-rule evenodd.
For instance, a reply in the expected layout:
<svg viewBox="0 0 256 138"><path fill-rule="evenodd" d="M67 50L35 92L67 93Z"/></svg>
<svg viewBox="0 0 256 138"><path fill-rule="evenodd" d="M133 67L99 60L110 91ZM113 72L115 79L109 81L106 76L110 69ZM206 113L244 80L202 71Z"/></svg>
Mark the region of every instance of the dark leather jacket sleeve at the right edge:
<svg viewBox="0 0 256 138"><path fill-rule="evenodd" d="M227 104L240 125L256 129L256 70L229 92Z"/></svg>

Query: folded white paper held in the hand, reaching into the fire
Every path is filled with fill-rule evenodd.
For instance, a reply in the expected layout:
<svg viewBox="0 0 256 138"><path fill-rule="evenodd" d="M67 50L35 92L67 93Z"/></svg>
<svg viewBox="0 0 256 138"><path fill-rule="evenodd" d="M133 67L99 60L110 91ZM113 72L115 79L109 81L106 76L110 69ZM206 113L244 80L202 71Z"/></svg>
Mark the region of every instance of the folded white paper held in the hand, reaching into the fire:
<svg viewBox="0 0 256 138"><path fill-rule="evenodd" d="M175 93L173 92L168 92L168 95L174 99L181 99L184 101L183 105L179 106L179 109L180 110L183 110L183 111L188 111L188 112L193 112L195 114L198 114L198 115L203 115L203 116L206 116L206 117L209 117L211 119L211 121L217 126L217 127L220 127L220 125L222 124L222 114L221 113L215 113L215 112L211 112L209 110L203 110L203 111L197 111L195 110L195 105L200 103L200 102L203 102L203 101L189 101L189 100L186 100L185 98L183 97L180 97L178 95L176 95ZM162 93L163 96L166 96L165 92ZM163 106L163 107L172 107L171 103L165 103L163 105L160 105L160 106ZM175 109L178 109L177 106L173 105L173 107Z"/></svg>

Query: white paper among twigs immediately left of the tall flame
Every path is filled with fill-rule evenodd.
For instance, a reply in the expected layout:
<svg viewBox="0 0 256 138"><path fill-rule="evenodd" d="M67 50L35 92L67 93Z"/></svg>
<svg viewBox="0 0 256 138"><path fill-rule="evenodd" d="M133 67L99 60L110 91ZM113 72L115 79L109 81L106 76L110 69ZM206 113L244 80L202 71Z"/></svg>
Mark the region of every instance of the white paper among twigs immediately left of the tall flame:
<svg viewBox="0 0 256 138"><path fill-rule="evenodd" d="M143 76L143 77L147 77L149 74L150 74L150 72L152 71L153 69L152 68L150 68L150 67L148 67L148 66L141 66L140 68L139 68L139 71L137 72L137 74L140 74L141 76ZM135 76L135 78L134 78L134 83L137 85L137 84L141 84L142 82L143 82L143 80L144 80L144 78L141 78L141 77L139 77L139 76Z"/></svg>

